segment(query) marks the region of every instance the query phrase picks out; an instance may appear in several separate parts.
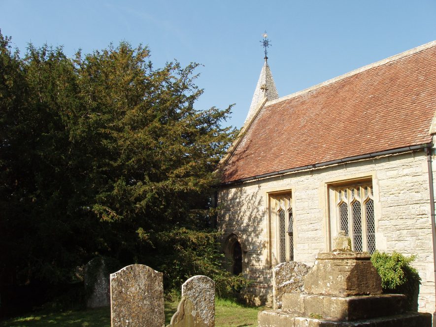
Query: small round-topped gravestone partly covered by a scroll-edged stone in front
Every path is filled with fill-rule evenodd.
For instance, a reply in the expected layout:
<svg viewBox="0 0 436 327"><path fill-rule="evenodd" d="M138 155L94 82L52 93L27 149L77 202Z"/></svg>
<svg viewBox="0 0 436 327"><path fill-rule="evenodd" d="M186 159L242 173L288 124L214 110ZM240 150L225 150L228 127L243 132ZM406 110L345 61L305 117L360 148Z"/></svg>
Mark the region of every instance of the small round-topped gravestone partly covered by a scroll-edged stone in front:
<svg viewBox="0 0 436 327"><path fill-rule="evenodd" d="M206 327L215 326L215 283L207 276L193 276L182 285L182 296L194 304Z"/></svg>

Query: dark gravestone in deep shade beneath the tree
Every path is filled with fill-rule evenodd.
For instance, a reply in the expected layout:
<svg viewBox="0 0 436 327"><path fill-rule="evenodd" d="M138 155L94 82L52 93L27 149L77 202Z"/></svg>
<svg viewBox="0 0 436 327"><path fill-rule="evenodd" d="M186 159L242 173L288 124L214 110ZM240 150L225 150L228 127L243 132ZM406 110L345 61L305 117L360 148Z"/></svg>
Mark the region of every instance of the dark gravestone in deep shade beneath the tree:
<svg viewBox="0 0 436 327"><path fill-rule="evenodd" d="M87 308L100 308L110 305L109 273L102 257L96 257L85 265L85 289L89 295Z"/></svg>

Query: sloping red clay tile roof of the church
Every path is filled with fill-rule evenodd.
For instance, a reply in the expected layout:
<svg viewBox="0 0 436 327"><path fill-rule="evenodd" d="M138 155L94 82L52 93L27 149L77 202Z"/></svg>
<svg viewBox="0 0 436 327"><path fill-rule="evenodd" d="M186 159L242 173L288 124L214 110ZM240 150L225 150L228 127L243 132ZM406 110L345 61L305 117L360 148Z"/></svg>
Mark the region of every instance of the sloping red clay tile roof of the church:
<svg viewBox="0 0 436 327"><path fill-rule="evenodd" d="M435 109L436 41L268 101L221 182L430 143Z"/></svg>

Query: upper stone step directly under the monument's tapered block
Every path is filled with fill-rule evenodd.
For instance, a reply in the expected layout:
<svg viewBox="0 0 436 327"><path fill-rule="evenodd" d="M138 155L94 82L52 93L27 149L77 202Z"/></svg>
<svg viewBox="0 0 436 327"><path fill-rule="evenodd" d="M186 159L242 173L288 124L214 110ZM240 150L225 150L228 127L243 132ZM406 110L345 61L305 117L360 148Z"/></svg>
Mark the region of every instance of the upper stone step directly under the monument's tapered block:
<svg viewBox="0 0 436 327"><path fill-rule="evenodd" d="M287 293L282 297L282 310L296 316L319 315L330 320L353 321L398 315L405 312L402 294L356 295L336 297Z"/></svg>

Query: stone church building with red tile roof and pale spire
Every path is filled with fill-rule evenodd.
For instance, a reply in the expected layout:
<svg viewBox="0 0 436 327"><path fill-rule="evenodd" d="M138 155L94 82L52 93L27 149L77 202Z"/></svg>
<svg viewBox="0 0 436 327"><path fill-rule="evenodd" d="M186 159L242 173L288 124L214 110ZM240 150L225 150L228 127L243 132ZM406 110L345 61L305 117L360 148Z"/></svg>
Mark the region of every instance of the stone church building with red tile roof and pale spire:
<svg viewBox="0 0 436 327"><path fill-rule="evenodd" d="M354 251L416 255L419 311L435 311L435 112L436 41L282 98L265 55L216 198L255 303L271 300L273 266L312 266L344 230Z"/></svg>

